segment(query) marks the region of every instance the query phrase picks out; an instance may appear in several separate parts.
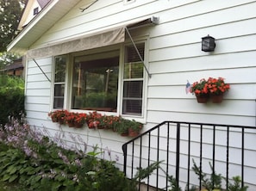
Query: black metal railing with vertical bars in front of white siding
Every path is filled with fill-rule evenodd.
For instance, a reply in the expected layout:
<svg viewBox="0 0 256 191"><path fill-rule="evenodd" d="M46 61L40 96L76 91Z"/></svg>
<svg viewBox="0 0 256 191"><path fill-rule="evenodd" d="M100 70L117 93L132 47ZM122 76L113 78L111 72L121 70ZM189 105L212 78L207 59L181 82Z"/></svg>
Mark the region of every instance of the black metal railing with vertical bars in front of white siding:
<svg viewBox="0 0 256 191"><path fill-rule="evenodd" d="M255 136L255 126L164 121L122 145L123 170L126 176L133 178L137 168L147 168L161 161L151 176L140 181L147 190L151 186L168 190L170 176L182 190L190 190L191 186L201 190L201 172L222 174L222 187L227 190L234 176L240 176L241 186L256 188L248 178L252 171L256 175L255 158L250 159L256 156L255 144L252 144ZM200 169L199 177L192 169L195 164Z"/></svg>

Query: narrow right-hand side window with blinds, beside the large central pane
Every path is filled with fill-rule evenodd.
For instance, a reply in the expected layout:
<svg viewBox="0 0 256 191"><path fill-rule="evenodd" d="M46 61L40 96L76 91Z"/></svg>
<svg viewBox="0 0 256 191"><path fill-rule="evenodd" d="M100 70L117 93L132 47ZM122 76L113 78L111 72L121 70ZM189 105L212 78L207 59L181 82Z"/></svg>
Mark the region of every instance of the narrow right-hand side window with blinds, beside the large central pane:
<svg viewBox="0 0 256 191"><path fill-rule="evenodd" d="M144 59L144 44L137 45ZM134 46L126 46L123 70L122 114L141 115L143 95L143 63Z"/></svg>

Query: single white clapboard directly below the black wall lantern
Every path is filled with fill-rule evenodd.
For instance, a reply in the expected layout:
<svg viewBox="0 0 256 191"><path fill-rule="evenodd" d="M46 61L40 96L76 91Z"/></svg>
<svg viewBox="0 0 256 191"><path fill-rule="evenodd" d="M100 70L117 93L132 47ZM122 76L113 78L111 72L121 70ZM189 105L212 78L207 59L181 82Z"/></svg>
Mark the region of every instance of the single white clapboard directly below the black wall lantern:
<svg viewBox="0 0 256 191"><path fill-rule="evenodd" d="M253 55L255 52L229 52L218 55L200 55L195 58L158 60L150 62L149 71L151 74L157 73L174 73L185 71L206 71L214 69L229 69L229 68L249 68L254 67L255 62ZM222 62L225 60L225 63ZM163 71L163 67L165 71Z"/></svg>

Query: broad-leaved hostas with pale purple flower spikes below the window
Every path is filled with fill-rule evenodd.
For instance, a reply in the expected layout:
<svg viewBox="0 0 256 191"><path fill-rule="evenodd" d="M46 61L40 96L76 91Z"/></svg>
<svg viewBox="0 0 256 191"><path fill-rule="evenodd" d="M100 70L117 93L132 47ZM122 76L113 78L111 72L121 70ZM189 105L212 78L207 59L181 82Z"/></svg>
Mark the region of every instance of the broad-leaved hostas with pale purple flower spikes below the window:
<svg viewBox="0 0 256 191"><path fill-rule="evenodd" d="M2 182L18 184L20 190L136 190L115 162L97 158L97 148L86 153L67 149L45 134L19 123L0 130Z"/></svg>

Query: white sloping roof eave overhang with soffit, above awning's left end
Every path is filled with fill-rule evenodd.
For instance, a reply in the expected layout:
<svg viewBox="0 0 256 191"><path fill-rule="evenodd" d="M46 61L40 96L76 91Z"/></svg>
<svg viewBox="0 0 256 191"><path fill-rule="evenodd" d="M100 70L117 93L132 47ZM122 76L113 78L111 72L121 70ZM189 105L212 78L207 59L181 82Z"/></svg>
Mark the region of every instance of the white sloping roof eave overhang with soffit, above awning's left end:
<svg viewBox="0 0 256 191"><path fill-rule="evenodd" d="M33 45L42 34L46 33L55 22L75 6L79 0L52 0L47 4L34 19L28 23L26 28L7 46L10 52L19 52L24 54L29 46Z"/></svg>

